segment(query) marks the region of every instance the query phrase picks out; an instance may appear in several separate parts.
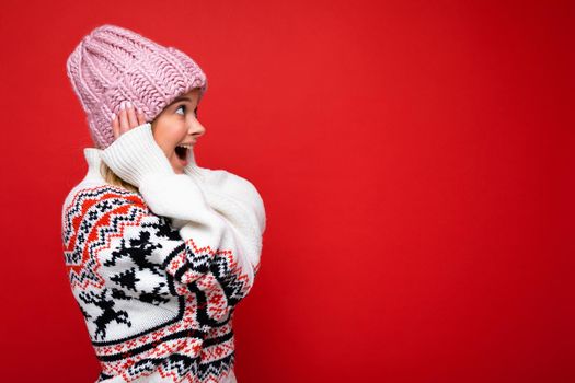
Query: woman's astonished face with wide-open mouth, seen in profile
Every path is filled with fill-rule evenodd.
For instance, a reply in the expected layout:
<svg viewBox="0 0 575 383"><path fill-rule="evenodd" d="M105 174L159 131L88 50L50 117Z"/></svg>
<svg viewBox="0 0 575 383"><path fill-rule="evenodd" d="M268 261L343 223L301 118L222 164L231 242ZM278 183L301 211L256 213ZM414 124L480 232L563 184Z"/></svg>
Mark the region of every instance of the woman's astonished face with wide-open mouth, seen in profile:
<svg viewBox="0 0 575 383"><path fill-rule="evenodd" d="M197 119L199 89L193 89L176 97L153 121L153 138L163 150L176 174L183 174L198 137L206 128ZM188 148L184 149L185 144Z"/></svg>

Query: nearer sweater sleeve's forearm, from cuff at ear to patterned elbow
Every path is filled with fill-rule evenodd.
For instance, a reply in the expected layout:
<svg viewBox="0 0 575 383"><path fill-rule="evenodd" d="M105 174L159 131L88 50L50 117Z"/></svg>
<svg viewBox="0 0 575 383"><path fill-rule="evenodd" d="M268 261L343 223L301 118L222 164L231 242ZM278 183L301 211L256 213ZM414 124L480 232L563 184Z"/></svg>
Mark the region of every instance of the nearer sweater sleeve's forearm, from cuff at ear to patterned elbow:
<svg viewBox="0 0 575 383"><path fill-rule="evenodd" d="M166 271L194 292L223 290L230 304L253 283L245 260L249 239L240 235L206 201L196 181L175 174L156 143L150 124L133 128L103 150L102 160L120 177L135 184L149 209L166 217L185 244Z"/></svg>

